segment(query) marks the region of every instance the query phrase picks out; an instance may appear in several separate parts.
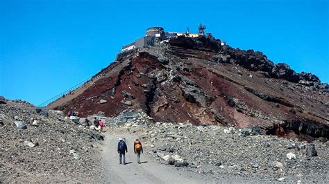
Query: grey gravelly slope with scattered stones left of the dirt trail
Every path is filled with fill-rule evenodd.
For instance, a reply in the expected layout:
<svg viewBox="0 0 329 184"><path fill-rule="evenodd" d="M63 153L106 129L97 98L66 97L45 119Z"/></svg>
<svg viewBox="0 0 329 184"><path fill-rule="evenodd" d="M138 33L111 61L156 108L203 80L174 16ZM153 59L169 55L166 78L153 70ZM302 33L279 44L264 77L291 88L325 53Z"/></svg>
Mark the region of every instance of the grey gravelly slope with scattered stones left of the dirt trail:
<svg viewBox="0 0 329 184"><path fill-rule="evenodd" d="M99 172L101 138L60 111L2 98L0 183L90 183Z"/></svg>

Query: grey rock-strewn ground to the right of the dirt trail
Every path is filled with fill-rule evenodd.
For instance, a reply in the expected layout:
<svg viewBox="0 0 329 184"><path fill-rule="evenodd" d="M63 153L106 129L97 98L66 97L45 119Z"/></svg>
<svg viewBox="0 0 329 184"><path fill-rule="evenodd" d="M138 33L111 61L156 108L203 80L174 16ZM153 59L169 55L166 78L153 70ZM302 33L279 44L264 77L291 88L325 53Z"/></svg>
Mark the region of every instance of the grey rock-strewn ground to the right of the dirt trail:
<svg viewBox="0 0 329 184"><path fill-rule="evenodd" d="M260 135L258 129L148 122L140 113L112 128L142 138L158 163L205 177L234 181L328 183L328 143ZM117 133L116 133L117 134ZM238 180L236 180L238 178ZM225 180L227 181L227 180Z"/></svg>

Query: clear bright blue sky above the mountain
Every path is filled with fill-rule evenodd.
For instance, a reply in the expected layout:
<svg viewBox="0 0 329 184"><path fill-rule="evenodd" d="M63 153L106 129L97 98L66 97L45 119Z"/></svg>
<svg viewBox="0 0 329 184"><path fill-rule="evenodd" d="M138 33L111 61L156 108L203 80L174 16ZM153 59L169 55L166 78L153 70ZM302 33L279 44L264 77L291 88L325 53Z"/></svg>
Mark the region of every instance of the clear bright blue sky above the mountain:
<svg viewBox="0 0 329 184"><path fill-rule="evenodd" d="M328 1L0 1L0 95L40 104L151 26L206 32L329 81Z"/></svg>

